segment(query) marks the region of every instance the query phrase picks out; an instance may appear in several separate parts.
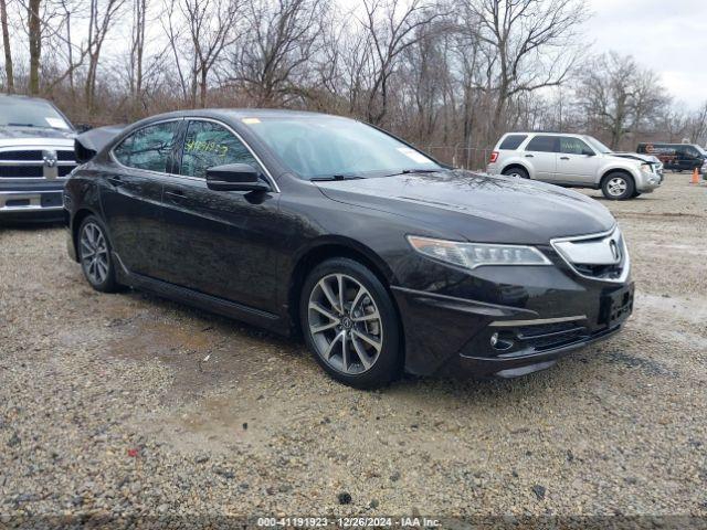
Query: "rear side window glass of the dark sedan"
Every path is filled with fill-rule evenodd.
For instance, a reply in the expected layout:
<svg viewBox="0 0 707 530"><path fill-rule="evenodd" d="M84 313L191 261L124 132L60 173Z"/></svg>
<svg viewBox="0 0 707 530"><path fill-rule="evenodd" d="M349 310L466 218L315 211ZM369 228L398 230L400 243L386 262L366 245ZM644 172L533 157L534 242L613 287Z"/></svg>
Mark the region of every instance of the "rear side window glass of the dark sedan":
<svg viewBox="0 0 707 530"><path fill-rule="evenodd" d="M149 125L136 130L113 150L115 158L128 168L167 172L167 161L175 148L180 121Z"/></svg>

